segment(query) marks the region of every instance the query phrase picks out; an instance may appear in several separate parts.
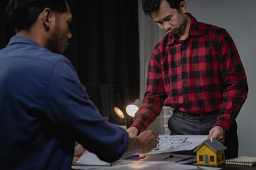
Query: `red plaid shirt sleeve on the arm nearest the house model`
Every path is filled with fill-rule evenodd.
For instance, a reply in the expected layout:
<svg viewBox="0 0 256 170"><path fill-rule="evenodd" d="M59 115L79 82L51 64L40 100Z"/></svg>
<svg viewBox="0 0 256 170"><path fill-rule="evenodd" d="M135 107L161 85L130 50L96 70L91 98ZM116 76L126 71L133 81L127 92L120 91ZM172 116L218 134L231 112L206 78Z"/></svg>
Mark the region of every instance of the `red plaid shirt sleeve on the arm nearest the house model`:
<svg viewBox="0 0 256 170"><path fill-rule="evenodd" d="M215 125L228 130L247 98L247 78L235 43L226 30L220 35L216 45L224 90L223 103Z"/></svg>

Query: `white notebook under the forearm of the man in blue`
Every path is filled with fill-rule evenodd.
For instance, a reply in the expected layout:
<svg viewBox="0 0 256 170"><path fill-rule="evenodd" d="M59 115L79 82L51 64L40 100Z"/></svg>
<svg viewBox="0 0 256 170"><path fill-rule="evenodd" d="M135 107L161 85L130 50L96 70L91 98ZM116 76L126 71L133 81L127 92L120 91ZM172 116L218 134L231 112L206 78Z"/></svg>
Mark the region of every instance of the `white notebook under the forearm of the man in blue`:
<svg viewBox="0 0 256 170"><path fill-rule="evenodd" d="M96 154L85 150L82 152L81 156L79 157L78 161L76 162L77 165L87 165L87 166L110 166L111 163L104 162L100 160Z"/></svg>

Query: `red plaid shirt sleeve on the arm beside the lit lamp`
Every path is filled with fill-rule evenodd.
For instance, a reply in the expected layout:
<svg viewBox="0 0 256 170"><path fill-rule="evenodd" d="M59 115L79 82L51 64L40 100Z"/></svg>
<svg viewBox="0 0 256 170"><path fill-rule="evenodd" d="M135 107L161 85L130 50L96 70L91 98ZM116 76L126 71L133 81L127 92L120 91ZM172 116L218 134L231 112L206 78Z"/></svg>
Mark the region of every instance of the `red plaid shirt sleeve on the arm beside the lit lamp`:
<svg viewBox="0 0 256 170"><path fill-rule="evenodd" d="M149 72L146 80L146 92L142 106L134 116L134 123L139 132L148 128L156 116L161 112L166 99L166 92L161 74L161 52L159 52L159 44L156 45L149 61Z"/></svg>

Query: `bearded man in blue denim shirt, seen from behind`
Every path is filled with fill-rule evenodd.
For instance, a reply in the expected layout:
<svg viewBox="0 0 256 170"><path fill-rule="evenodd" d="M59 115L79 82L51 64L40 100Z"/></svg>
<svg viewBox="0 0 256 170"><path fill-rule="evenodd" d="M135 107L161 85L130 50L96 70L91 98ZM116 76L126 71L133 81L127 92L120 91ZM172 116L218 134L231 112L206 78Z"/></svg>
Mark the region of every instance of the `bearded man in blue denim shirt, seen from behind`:
<svg viewBox="0 0 256 170"><path fill-rule="evenodd" d="M68 1L11 0L6 15L16 35L0 50L1 169L70 169L75 141L105 162L156 147L158 132L129 138L89 100L62 55Z"/></svg>

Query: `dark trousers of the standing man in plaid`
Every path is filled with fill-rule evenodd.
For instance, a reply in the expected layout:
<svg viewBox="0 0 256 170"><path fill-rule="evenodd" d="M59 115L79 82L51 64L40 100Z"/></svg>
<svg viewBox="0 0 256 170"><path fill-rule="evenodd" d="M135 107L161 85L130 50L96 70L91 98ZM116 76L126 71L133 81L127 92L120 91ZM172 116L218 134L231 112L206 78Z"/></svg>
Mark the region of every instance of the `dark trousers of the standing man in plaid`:
<svg viewBox="0 0 256 170"><path fill-rule="evenodd" d="M215 125L218 113L206 113L203 115L191 115L174 110L174 115L168 120L171 135L208 135ZM230 125L225 132L225 159L238 157L238 133L237 123Z"/></svg>

